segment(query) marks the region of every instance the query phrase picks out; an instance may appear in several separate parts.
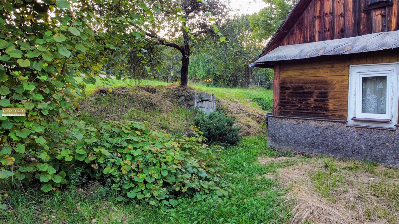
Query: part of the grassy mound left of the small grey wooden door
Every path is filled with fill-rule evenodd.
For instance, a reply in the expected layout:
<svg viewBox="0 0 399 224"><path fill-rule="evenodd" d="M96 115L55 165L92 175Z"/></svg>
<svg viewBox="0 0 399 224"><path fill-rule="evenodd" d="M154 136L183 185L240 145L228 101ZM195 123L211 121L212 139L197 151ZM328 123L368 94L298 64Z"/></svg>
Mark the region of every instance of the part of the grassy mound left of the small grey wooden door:
<svg viewBox="0 0 399 224"><path fill-rule="evenodd" d="M155 129L182 136L191 132L196 116L185 104L192 92L177 85L101 87L79 103L80 115L89 125L109 120L148 121Z"/></svg>

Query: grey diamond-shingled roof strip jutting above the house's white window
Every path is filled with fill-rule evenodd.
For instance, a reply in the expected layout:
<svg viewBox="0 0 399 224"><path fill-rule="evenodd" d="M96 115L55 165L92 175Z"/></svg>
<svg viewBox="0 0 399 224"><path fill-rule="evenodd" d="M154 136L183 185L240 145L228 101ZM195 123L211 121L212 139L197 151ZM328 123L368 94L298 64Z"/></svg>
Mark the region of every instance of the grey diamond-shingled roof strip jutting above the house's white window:
<svg viewBox="0 0 399 224"><path fill-rule="evenodd" d="M371 33L358 37L280 46L256 60L255 63L273 63L280 60L344 55L397 47L399 47L399 31Z"/></svg>

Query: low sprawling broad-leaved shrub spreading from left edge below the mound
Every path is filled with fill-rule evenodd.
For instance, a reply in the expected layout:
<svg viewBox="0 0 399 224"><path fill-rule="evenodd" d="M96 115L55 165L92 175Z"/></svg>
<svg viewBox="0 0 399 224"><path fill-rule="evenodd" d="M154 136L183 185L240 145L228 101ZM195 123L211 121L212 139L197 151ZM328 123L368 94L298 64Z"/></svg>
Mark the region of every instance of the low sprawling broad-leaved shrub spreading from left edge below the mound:
<svg viewBox="0 0 399 224"><path fill-rule="evenodd" d="M72 140L72 130L65 129L54 142L63 140L48 149L4 147L0 178L15 176L14 183L24 184L36 180L44 192L105 179L119 192L117 200L151 205L175 205L181 193L227 195L219 187L215 162L221 147L207 146L199 130L192 130L194 136L176 139L143 123L110 121Z"/></svg>

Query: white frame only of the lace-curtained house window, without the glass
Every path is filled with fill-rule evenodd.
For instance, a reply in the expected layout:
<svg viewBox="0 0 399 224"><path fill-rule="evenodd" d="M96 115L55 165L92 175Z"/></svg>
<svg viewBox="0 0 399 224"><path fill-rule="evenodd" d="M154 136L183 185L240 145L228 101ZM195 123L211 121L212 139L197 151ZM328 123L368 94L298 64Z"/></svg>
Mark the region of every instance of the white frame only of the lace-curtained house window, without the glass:
<svg viewBox="0 0 399 224"><path fill-rule="evenodd" d="M387 110L386 114L362 113L362 78L374 76L387 76ZM395 128L398 121L399 101L399 62L384 64L351 65L349 74L348 95L348 124L367 127ZM364 119L364 121L352 120L352 118ZM376 119L367 121L367 119ZM378 120L390 120L388 123Z"/></svg>

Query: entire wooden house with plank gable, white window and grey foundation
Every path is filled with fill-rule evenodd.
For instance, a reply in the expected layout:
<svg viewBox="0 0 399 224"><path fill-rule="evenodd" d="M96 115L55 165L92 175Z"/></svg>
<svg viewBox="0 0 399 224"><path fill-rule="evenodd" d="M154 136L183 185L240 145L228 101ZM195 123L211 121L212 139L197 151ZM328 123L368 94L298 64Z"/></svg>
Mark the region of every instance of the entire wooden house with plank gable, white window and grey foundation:
<svg viewBox="0 0 399 224"><path fill-rule="evenodd" d="M298 0L251 66L274 68L269 145L399 168L399 0Z"/></svg>

